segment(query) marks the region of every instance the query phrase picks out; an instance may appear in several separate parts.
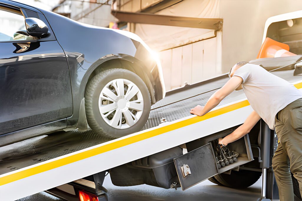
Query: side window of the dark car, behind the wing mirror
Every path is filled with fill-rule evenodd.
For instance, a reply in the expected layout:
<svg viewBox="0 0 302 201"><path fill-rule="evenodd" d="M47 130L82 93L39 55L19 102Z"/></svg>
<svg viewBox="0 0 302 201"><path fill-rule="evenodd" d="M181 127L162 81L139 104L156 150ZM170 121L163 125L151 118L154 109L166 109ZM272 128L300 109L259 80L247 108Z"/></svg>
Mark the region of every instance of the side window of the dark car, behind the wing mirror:
<svg viewBox="0 0 302 201"><path fill-rule="evenodd" d="M0 24L0 42L34 40L26 31L24 16L20 10L0 6Z"/></svg>

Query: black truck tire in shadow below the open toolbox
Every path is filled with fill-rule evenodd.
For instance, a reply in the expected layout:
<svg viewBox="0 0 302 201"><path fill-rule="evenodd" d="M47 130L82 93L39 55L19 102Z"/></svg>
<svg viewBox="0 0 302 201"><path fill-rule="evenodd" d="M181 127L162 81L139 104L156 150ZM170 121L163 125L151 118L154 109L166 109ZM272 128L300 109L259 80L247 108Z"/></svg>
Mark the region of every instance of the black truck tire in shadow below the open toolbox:
<svg viewBox="0 0 302 201"><path fill-rule="evenodd" d="M231 174L217 174L214 178L223 186L230 188L247 188L259 180L262 172L240 170L231 171ZM218 184L218 185L220 185Z"/></svg>

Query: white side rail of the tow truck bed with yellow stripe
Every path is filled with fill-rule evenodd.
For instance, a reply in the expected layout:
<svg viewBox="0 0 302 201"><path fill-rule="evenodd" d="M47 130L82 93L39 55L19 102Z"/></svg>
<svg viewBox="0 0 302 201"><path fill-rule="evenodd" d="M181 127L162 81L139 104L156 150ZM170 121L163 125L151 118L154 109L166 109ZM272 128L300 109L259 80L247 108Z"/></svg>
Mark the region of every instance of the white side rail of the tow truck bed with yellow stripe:
<svg viewBox="0 0 302 201"><path fill-rule="evenodd" d="M302 88L301 77L295 86ZM230 96L230 99L232 97L240 96ZM202 117L190 115L1 174L0 200L14 200L38 193L242 124L251 111L247 100L237 100L214 108Z"/></svg>

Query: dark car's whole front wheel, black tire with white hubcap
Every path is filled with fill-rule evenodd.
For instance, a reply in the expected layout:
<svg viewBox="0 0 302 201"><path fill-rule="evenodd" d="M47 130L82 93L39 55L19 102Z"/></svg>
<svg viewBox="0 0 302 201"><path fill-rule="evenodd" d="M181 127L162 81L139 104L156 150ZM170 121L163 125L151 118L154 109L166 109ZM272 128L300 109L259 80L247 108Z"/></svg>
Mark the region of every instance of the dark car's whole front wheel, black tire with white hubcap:
<svg viewBox="0 0 302 201"><path fill-rule="evenodd" d="M104 112L108 108L114 109ZM150 108L151 99L146 84L131 71L108 69L95 75L86 86L88 125L92 130L103 129L108 137L123 137L141 130L148 120Z"/></svg>

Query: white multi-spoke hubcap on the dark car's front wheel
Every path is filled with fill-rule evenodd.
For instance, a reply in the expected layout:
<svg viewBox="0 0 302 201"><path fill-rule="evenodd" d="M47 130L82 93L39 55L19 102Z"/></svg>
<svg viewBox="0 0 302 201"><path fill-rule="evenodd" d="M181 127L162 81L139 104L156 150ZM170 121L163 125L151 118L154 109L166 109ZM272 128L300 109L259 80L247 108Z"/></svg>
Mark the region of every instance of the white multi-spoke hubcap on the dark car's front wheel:
<svg viewBox="0 0 302 201"><path fill-rule="evenodd" d="M102 118L114 128L133 126L143 113L143 95L130 80L116 79L107 83L99 97Z"/></svg>

